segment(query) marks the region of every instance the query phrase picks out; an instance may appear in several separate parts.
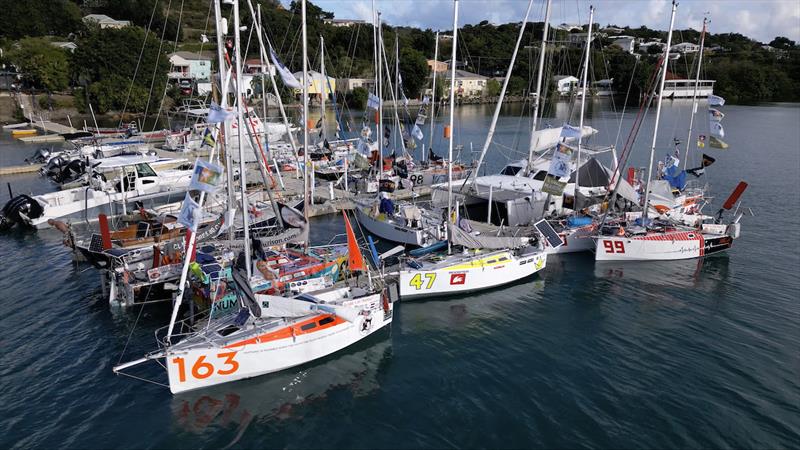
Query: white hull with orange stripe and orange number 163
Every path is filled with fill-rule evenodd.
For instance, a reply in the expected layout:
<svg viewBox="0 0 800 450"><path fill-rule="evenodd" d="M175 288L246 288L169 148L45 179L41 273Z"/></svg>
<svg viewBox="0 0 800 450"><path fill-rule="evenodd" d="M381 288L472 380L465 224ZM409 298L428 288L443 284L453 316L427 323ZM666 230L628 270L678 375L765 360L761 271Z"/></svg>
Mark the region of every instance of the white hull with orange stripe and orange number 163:
<svg viewBox="0 0 800 450"><path fill-rule="evenodd" d="M359 299L359 303L371 311L367 325L365 316L349 322L329 314L311 314L260 335L248 334L249 338L241 341L231 335L231 342L187 350L181 350L179 343L165 355L170 391L177 394L299 366L349 347L391 323L393 306L381 306L381 294ZM329 318L333 320L319 325ZM303 330L312 323L314 328Z"/></svg>

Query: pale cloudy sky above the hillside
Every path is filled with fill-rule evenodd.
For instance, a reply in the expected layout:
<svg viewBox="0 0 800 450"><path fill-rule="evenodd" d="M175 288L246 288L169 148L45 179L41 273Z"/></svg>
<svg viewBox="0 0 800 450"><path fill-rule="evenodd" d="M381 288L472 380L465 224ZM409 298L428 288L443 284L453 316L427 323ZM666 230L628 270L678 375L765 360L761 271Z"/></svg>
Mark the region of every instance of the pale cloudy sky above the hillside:
<svg viewBox="0 0 800 450"><path fill-rule="evenodd" d="M369 20L372 0L311 0L338 19ZM534 0L529 21L544 18L544 0ZM589 5L595 6L595 22L667 30L670 0L553 0L551 24L587 23ZM434 30L453 26L452 0L375 0L385 23ZM519 22L527 0L460 0L459 24L488 20L495 24ZM712 33L736 32L768 43L775 36L800 41L800 0L681 0L675 17L677 29L702 28L711 20Z"/></svg>

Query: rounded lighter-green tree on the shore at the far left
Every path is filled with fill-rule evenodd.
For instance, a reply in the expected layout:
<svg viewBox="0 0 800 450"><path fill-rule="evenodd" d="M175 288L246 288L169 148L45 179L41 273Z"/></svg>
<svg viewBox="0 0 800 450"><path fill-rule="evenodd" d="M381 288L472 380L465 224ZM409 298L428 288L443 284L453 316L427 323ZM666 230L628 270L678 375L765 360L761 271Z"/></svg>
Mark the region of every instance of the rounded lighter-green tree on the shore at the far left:
<svg viewBox="0 0 800 450"><path fill-rule="evenodd" d="M31 86L48 91L69 87L69 61L64 49L54 47L45 38L26 38L9 54L23 78Z"/></svg>

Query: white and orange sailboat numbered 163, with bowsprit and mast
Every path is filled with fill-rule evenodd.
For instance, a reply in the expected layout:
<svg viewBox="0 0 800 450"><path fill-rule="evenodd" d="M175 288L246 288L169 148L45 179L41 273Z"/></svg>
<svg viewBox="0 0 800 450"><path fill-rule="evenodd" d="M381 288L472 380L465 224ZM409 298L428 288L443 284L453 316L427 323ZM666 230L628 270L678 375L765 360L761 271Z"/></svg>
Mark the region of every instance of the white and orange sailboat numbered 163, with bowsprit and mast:
<svg viewBox="0 0 800 450"><path fill-rule="evenodd" d="M214 3L219 23L219 0ZM238 64L238 0L233 0L233 16ZM303 71L307 73L305 1L302 2L302 31ZM307 87L303 90L304 110L307 112ZM241 99L241 96L237 95L237 98ZM306 143L307 133L306 129ZM246 196L243 196L243 203L245 199ZM350 250L349 271L368 273L347 216L345 229ZM248 239L245 215L244 251L237 257L233 271L240 297L237 314L209 319L200 331L192 328L189 322L176 321L189 267L186 261L179 285L181 291L176 298L170 323L166 330L157 333L162 348L138 360L118 365L114 367L114 372L127 374L126 369L144 362L163 361L170 391L180 393L301 365L346 348L391 323L393 303L385 288L379 285L380 280L373 280L369 274L366 287L356 283L292 298L254 294L249 283L251 261ZM190 239L187 253L191 253L193 245L194 239ZM173 338L180 340L173 343Z"/></svg>

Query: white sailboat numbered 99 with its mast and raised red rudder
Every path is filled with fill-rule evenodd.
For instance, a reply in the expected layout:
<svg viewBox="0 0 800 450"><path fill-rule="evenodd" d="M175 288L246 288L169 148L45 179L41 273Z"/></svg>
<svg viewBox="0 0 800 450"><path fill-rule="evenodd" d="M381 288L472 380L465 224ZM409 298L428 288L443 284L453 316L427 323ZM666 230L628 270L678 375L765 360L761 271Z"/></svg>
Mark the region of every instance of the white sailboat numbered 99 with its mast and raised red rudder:
<svg viewBox="0 0 800 450"><path fill-rule="evenodd" d="M653 161L658 137L658 126L661 118L661 104L664 84L667 75L670 43L675 24L677 4L672 3L670 27L667 34L667 45L661 64L661 79L656 104L655 128L650 146L650 163L647 172L647 186L644 194L643 211L639 214L627 213L601 223L595 237L595 259L597 261L642 261L642 260L677 260L697 258L729 249L733 240L739 237L743 213L737 210L729 223L722 222L726 210L737 205L739 197L747 188L747 183L740 182L717 213L712 223L699 223L698 226L687 227L682 223L664 218L649 219L653 194ZM665 181L665 180L660 180Z"/></svg>

